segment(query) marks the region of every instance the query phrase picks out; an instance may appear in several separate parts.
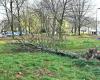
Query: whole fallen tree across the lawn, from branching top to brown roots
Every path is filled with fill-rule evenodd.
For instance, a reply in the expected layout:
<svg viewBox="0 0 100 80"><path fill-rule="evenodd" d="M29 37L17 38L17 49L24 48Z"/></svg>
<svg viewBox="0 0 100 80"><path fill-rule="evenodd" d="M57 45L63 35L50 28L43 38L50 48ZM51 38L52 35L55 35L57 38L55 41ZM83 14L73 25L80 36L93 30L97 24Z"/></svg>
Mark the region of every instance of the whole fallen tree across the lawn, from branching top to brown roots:
<svg viewBox="0 0 100 80"><path fill-rule="evenodd" d="M90 48L86 52L86 54L80 55L80 54L74 53L74 52L53 49L53 48L49 48L46 46L34 45L31 43L24 43L24 44L14 43L14 44L20 45L20 47L18 47L18 49L21 49L23 51L29 51L29 52L42 51L42 52L47 52L50 54L56 54L56 55L63 56L63 57L69 57L72 59L85 59L85 60L98 59L98 60L100 60L100 51L98 51L96 48Z"/></svg>

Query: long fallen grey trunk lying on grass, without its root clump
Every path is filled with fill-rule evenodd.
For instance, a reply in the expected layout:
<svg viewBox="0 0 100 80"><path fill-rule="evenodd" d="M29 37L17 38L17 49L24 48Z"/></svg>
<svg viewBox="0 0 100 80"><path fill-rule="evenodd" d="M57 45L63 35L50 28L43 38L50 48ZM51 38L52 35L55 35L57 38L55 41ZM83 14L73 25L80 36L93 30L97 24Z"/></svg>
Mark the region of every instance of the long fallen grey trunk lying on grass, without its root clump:
<svg viewBox="0 0 100 80"><path fill-rule="evenodd" d="M66 52L63 50L57 50L57 49L53 49L53 48L48 48L45 46L41 46L41 45L33 45L31 43L15 43L20 45L20 48L25 50L25 51L43 51L43 52L47 52L47 53L51 53L51 54L56 54L56 55L60 55L63 57L70 57L70 58L81 58L81 56L77 53L72 53L72 52Z"/></svg>

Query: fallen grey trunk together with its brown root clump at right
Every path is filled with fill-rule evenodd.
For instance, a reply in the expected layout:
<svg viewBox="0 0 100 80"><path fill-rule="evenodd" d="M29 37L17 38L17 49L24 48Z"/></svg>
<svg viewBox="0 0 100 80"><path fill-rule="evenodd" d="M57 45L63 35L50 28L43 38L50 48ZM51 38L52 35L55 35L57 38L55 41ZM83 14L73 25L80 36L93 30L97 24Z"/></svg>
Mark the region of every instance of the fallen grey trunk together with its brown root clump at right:
<svg viewBox="0 0 100 80"><path fill-rule="evenodd" d="M25 46L31 47L31 49L38 50L38 51L45 51L48 53L52 53L52 54L56 54L56 55L60 55L60 56L65 56L65 57L70 57L70 58L76 58L76 59L86 59L86 60L90 60L90 59L98 59L100 60L100 51L97 51L96 48L90 48L88 50L88 52L84 55L79 55L77 53L72 53L72 52L66 52L63 50L57 50L57 49L52 49L52 48L48 48L45 46L41 46L41 45L33 45L33 44L25 44Z"/></svg>

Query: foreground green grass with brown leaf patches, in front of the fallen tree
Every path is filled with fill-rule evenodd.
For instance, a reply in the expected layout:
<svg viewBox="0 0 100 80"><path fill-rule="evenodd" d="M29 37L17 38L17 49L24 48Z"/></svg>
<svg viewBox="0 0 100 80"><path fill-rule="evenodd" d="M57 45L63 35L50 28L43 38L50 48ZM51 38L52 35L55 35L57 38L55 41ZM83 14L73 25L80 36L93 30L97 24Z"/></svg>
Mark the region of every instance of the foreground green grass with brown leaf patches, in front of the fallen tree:
<svg viewBox="0 0 100 80"><path fill-rule="evenodd" d="M80 65L81 64L81 65ZM0 55L0 80L100 80L100 63L48 53ZM21 72L19 78L17 73Z"/></svg>

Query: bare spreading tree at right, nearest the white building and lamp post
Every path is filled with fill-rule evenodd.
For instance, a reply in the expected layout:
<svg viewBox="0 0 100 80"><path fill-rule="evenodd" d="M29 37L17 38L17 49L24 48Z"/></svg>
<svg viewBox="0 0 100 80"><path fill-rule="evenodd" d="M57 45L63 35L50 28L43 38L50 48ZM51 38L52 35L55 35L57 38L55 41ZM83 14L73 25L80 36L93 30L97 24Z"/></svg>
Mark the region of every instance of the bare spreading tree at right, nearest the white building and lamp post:
<svg viewBox="0 0 100 80"><path fill-rule="evenodd" d="M70 3L70 11L67 15L74 24L75 34L78 30L78 35L80 35L80 29L84 25L84 21L87 20L87 14L90 8L90 0L73 0Z"/></svg>

